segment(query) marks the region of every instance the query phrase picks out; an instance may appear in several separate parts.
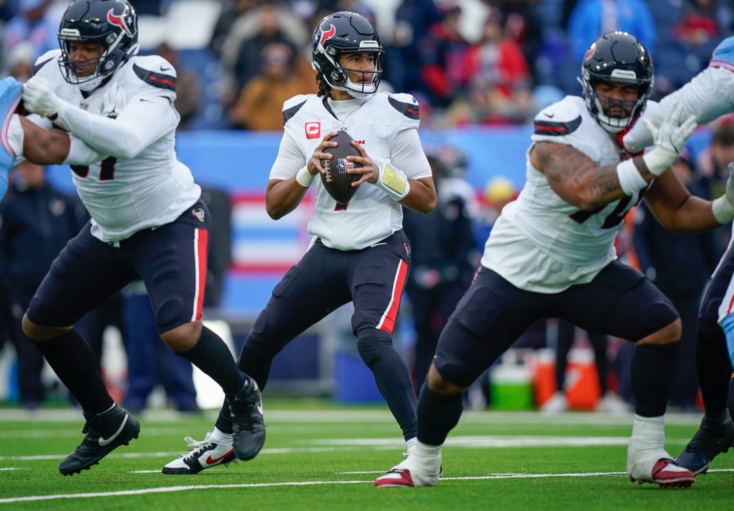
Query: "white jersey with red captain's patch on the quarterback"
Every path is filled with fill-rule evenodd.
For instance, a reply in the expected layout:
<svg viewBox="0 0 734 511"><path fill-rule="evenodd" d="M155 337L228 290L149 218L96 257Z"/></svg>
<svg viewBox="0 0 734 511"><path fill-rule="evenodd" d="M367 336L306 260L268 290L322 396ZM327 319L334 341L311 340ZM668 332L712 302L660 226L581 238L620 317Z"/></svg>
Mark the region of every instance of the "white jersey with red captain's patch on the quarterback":
<svg viewBox="0 0 734 511"><path fill-rule="evenodd" d="M352 139L362 144L375 165L381 167L391 161L410 179L431 177L429 163L419 143L406 147L396 144L396 139L400 141L401 137L418 141L415 131L419 122L418 103L413 96L377 92L366 100L329 101L335 115L324 106L323 99L316 95L298 95L283 103L285 133L270 172L271 179L292 177L308 162L324 136L339 130L346 130ZM410 130L414 138L401 135ZM295 151L299 157L294 157ZM308 232L321 238L330 248L364 249L402 228L401 205L375 185L360 185L346 205L337 204L319 175L313 185L316 205L308 221Z"/></svg>

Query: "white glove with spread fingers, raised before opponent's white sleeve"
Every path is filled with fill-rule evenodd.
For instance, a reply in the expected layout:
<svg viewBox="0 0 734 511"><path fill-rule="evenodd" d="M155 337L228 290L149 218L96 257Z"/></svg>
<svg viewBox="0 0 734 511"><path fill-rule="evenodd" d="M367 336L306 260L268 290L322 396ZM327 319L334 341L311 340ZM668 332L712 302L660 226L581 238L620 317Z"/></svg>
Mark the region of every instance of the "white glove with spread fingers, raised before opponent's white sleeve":
<svg viewBox="0 0 734 511"><path fill-rule="evenodd" d="M655 139L653 150L642 156L651 174L659 176L675 163L680 152L686 147L688 137L696 130L698 123L694 114L688 116L685 121L681 121L681 117L683 117L683 105L674 101L670 104L660 128L650 120L642 120Z"/></svg>

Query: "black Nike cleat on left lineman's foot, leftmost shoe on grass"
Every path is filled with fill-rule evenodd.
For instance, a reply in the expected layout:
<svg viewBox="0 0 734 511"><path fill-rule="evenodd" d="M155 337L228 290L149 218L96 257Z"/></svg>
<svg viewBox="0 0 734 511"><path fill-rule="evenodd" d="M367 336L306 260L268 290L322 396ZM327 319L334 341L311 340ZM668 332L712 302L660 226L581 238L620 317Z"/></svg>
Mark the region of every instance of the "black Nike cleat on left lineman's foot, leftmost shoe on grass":
<svg viewBox="0 0 734 511"><path fill-rule="evenodd" d="M117 447L128 445L140 433L140 423L119 406L102 415L88 416L84 413L84 417L87 424L81 433L87 436L59 464L59 472L65 476L88 470Z"/></svg>

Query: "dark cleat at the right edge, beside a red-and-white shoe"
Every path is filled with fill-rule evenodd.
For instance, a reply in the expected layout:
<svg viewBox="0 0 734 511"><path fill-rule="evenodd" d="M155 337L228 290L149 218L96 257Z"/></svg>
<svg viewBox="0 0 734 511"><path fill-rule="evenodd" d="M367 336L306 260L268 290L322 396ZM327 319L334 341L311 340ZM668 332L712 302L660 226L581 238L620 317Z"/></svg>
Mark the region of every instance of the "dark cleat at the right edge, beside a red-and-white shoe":
<svg viewBox="0 0 734 511"><path fill-rule="evenodd" d="M694 474L705 474L713 458L727 452L732 446L734 446L734 422L729 412L727 411L725 419L718 423L712 423L704 416L701 427L675 461Z"/></svg>

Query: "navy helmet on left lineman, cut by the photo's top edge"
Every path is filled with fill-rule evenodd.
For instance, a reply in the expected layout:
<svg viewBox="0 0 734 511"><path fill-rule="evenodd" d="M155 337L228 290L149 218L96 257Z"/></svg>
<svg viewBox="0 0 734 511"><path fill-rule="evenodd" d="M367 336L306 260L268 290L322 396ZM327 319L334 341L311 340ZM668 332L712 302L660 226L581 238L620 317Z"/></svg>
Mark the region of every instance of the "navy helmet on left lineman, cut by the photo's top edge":
<svg viewBox="0 0 734 511"><path fill-rule="evenodd" d="M118 67L137 54L137 14L127 0L75 0L66 10L59 26L59 61L62 74L70 84L92 91L115 73ZM86 61L69 59L69 43L95 41L100 56ZM77 76L76 68L95 63L89 76Z"/></svg>

